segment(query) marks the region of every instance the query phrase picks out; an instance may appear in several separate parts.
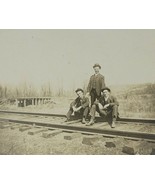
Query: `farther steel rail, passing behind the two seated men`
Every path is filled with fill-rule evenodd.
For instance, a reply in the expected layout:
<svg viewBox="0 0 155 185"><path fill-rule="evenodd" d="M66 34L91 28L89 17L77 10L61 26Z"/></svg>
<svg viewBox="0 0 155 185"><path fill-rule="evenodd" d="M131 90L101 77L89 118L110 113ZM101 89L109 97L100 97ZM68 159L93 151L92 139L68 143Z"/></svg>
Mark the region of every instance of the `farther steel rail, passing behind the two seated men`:
<svg viewBox="0 0 155 185"><path fill-rule="evenodd" d="M12 113L12 114L27 114L37 116L55 116L55 117L66 117L64 114L50 114L50 113L38 113L38 112L21 112L21 111L7 111L0 110L0 113ZM103 121L103 118L98 117L98 120ZM155 118L131 118L131 117L120 117L117 121L124 122L136 122L136 123L155 123Z"/></svg>

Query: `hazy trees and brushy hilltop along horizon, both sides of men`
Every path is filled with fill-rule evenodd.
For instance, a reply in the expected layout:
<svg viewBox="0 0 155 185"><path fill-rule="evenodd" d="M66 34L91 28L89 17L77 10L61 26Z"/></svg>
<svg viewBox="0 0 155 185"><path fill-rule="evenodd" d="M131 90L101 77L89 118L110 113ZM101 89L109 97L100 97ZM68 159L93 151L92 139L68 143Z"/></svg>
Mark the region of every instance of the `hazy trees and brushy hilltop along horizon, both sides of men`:
<svg viewBox="0 0 155 185"><path fill-rule="evenodd" d="M83 82L82 88L86 92L87 82ZM140 84L131 86L128 92L124 92L124 95L142 95L142 94L155 94L155 84ZM122 96L123 96L122 94ZM18 85L2 85L0 84L0 99L15 99L18 97L51 97L51 96L74 96L75 87L66 90L63 85L54 88L51 83L42 84L40 87L35 87L32 84L26 82Z"/></svg>

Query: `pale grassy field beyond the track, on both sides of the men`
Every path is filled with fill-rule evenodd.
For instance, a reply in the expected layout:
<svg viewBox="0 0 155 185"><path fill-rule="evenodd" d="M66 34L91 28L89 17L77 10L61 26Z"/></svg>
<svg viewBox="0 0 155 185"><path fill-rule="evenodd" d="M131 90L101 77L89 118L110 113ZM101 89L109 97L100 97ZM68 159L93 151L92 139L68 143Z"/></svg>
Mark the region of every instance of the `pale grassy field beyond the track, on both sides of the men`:
<svg viewBox="0 0 155 185"><path fill-rule="evenodd" d="M155 118L155 84L111 86L110 88L119 101L120 117ZM70 97L52 97L51 103L24 108L2 104L0 108L65 114L75 97L75 94Z"/></svg>

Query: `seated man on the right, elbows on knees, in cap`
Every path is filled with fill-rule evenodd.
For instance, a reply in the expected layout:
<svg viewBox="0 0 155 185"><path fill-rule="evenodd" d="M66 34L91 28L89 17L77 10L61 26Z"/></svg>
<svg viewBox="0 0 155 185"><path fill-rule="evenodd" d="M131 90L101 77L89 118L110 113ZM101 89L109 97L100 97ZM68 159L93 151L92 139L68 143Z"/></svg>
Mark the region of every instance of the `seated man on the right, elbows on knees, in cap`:
<svg viewBox="0 0 155 185"><path fill-rule="evenodd" d="M97 111L100 116L109 118L111 127L115 128L115 122L118 116L118 106L119 103L117 99L111 95L111 90L108 87L105 87L102 90L101 97L94 102L90 110L91 120L86 126L94 124L95 112Z"/></svg>

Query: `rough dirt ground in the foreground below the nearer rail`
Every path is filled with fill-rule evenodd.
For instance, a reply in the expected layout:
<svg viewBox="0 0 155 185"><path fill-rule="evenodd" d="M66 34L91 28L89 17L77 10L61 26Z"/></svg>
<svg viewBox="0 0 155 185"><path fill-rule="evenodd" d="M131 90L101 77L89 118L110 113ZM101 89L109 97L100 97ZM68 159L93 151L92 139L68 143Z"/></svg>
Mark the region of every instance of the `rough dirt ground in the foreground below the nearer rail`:
<svg viewBox="0 0 155 185"><path fill-rule="evenodd" d="M74 134L73 134L74 135ZM131 141L123 138L106 138L71 133L59 133L51 138L43 138L42 134L29 135L28 131L19 129L0 129L0 154L1 155L149 155L155 148L155 143L144 141ZM123 152L124 147L129 151Z"/></svg>

